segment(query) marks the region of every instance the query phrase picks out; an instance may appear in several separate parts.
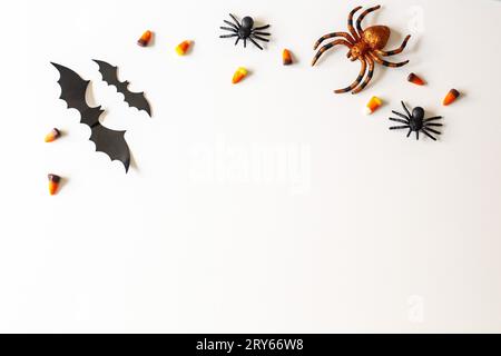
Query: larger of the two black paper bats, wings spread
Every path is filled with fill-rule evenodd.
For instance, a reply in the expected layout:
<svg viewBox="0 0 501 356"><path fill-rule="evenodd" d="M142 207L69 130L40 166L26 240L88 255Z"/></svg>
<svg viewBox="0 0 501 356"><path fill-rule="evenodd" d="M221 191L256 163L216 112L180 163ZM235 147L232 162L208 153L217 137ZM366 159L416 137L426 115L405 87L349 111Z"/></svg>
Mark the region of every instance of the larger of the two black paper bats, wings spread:
<svg viewBox="0 0 501 356"><path fill-rule="evenodd" d="M111 160L119 160L124 164L126 172L129 170L130 152L124 138L126 131L116 131L104 127L99 122L99 117L105 110L101 107L91 108L86 101L86 91L89 80L84 80L79 75L69 68L51 62L59 71L58 80L61 87L60 99L65 100L68 109L77 109L80 112L80 122L90 127L90 140L96 144L96 150L105 152Z"/></svg>

